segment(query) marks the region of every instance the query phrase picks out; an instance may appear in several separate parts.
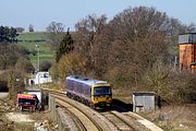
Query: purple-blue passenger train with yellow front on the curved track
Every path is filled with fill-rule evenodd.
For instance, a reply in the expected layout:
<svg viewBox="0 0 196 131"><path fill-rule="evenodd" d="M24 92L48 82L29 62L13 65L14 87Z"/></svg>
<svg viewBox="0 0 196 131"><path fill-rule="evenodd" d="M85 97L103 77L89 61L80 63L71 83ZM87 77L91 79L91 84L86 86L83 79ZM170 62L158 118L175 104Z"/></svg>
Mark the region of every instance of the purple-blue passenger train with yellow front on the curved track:
<svg viewBox="0 0 196 131"><path fill-rule="evenodd" d="M68 97L94 109L111 107L112 90L106 81L70 75L65 79L65 92Z"/></svg>

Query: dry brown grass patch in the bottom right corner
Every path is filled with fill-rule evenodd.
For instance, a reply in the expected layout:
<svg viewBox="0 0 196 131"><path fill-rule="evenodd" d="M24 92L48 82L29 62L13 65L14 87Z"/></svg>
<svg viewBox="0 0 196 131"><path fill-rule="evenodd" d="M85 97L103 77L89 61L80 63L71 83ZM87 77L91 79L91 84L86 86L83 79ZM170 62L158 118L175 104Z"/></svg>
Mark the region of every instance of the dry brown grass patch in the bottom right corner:
<svg viewBox="0 0 196 131"><path fill-rule="evenodd" d="M168 106L152 112L142 112L166 131L195 131L196 105Z"/></svg>

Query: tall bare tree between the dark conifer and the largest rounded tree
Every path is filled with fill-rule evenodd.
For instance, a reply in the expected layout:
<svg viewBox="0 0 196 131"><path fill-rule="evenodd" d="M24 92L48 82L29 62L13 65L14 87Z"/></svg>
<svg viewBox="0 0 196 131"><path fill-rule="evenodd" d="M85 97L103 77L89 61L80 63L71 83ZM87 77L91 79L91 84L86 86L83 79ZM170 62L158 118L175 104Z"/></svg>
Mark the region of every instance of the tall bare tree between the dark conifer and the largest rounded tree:
<svg viewBox="0 0 196 131"><path fill-rule="evenodd" d="M107 25L106 15L96 16L95 14L87 15L86 19L75 24L75 48L76 50L88 58L88 63L91 70L96 71L99 48L97 48L102 31ZM95 72L96 73L96 72Z"/></svg>

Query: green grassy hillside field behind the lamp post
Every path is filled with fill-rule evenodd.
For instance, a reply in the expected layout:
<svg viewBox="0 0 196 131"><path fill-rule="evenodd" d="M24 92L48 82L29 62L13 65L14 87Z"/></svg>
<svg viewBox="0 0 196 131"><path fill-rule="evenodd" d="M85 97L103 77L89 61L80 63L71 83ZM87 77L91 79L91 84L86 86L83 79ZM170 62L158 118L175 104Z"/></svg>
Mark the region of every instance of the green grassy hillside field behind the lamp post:
<svg viewBox="0 0 196 131"><path fill-rule="evenodd" d="M52 51L48 44L48 33L23 33L17 36L19 45L25 47L29 52L29 59L35 69L38 62L38 48L39 45L39 62L54 61L54 51Z"/></svg>

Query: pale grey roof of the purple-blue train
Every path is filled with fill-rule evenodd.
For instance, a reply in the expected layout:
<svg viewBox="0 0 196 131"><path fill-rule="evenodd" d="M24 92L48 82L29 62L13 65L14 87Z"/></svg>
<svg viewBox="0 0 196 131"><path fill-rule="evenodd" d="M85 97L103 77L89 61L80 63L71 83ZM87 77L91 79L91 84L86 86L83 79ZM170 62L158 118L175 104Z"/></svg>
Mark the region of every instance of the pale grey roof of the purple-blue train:
<svg viewBox="0 0 196 131"><path fill-rule="evenodd" d="M66 78L66 80L73 80L76 82L81 82L87 85L109 85L108 82L106 81L100 81L100 80L95 80L95 79L89 79L89 78L83 78L83 76L78 76L78 75L70 75Z"/></svg>

